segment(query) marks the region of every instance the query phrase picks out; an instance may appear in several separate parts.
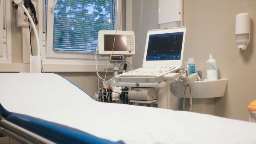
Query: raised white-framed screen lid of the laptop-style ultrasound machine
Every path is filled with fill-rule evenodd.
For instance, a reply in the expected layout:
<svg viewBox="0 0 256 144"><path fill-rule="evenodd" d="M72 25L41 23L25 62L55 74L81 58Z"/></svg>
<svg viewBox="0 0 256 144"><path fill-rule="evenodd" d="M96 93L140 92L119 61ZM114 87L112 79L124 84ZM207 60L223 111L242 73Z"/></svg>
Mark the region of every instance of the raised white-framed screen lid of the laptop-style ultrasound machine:
<svg viewBox="0 0 256 144"><path fill-rule="evenodd" d="M147 34L143 67L180 67L186 28L153 29Z"/></svg>

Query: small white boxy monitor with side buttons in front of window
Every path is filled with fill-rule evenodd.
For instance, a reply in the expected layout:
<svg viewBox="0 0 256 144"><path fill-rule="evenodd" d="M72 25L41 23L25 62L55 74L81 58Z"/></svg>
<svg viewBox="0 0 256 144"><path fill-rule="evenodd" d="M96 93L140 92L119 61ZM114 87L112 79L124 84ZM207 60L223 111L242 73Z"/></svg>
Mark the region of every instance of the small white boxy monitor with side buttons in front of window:
<svg viewBox="0 0 256 144"><path fill-rule="evenodd" d="M132 31L99 31L99 55L135 55Z"/></svg>

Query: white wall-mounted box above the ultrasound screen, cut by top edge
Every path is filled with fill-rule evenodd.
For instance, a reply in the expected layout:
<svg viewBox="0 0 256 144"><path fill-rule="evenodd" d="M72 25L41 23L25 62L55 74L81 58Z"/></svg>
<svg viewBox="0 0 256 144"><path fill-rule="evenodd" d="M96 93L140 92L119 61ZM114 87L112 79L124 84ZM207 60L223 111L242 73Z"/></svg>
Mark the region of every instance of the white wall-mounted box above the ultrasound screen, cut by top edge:
<svg viewBox="0 0 256 144"><path fill-rule="evenodd" d="M182 26L183 0L158 0L158 26L171 28Z"/></svg>

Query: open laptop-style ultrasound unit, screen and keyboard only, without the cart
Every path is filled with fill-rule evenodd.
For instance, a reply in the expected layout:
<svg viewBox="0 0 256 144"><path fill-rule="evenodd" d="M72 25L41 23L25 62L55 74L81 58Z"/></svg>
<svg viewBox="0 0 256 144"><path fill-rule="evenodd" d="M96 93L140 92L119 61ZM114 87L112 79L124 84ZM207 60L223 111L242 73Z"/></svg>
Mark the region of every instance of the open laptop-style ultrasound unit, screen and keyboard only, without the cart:
<svg viewBox="0 0 256 144"><path fill-rule="evenodd" d="M117 75L115 81L129 83L165 81L165 75L179 70L182 65L185 35L185 27L148 31L143 67Z"/></svg>

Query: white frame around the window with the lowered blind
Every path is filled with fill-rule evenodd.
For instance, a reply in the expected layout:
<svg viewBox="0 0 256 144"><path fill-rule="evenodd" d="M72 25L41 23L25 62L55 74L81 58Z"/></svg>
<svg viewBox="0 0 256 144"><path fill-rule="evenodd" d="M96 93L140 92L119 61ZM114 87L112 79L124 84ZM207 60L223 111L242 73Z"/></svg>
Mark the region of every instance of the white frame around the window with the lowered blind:
<svg viewBox="0 0 256 144"><path fill-rule="evenodd" d="M44 61L48 61L49 59L58 59L60 62L64 60L64 63L67 63L67 60L73 60L74 63L91 63L95 64L95 53L87 53L87 52L61 52L54 51L53 47L53 23L54 23L54 13L50 12L50 8L52 7L54 0L47 0L47 34L46 34L46 48L44 52L41 52L44 58ZM121 18L120 8L121 8L121 0L117 0L117 19ZM122 21L121 21L122 22ZM119 27L120 23L118 20L116 21L117 27ZM44 50L44 49L43 49ZM47 60L48 59L48 60ZM60 60L61 59L61 60ZM103 60L107 61L108 58L103 57ZM70 63L70 62L69 62ZM84 63L84 64L85 64Z"/></svg>

